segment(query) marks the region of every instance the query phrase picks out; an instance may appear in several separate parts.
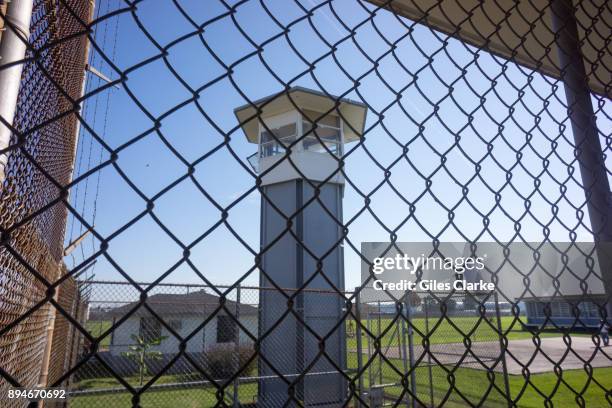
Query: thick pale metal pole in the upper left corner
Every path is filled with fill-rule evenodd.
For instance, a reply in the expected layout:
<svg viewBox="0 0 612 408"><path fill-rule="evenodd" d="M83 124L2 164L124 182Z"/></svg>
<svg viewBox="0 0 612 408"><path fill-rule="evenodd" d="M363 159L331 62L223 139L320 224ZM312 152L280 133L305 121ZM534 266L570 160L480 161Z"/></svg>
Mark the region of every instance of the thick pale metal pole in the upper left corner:
<svg viewBox="0 0 612 408"><path fill-rule="evenodd" d="M0 117L13 124L19 84L24 63L19 64L26 54L30 38L30 20L33 0L13 0L8 4L5 15L5 29L0 43ZM10 66L11 64L14 64ZM0 121L0 151L9 147L11 129ZM0 186L6 178L8 152L0 153Z"/></svg>

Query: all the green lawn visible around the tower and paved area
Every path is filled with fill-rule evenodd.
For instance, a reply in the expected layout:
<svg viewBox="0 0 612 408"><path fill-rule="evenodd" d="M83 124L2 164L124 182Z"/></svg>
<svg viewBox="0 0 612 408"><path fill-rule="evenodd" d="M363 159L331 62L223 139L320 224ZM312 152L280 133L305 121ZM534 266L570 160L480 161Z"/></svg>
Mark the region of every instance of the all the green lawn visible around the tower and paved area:
<svg viewBox="0 0 612 408"><path fill-rule="evenodd" d="M497 333L485 321L478 321L475 317L453 317L452 324L443 319L439 324L437 318L430 319L429 333L430 341L433 344L457 343L463 341L461 332L468 334L472 341L496 341ZM532 338L533 334L528 331L521 330L518 322L511 328L513 322L512 317L503 317L501 320L502 329L509 330L508 339L526 339ZM415 318L413 323L416 329L425 332L425 319ZM495 321L492 322L494 325ZM110 327L110 322L96 321L88 322L87 328L93 335L100 335ZM365 324L365 323L364 323ZM369 322L371 331L376 334L379 332L378 320ZM453 327L453 324L456 327ZM397 345L398 334L395 332L397 325L392 325L391 319L381 319L380 327L384 331L387 326L391 325L391 329L382 337L382 345ZM357 349L357 341L355 338L355 330L347 326L349 336L347 337L347 348L349 351L349 368L356 368L356 353L351 350ZM586 334L576 334L586 335ZM365 339L367 335L363 334L363 345L367 344ZM557 332L544 332L541 337L560 336ZM102 341L102 347L108 347L110 336L107 336ZM419 344L422 337L415 331L415 343ZM391 363L401 372L403 362L397 359L390 359ZM451 370L452 367L447 367ZM368 386L368 375L363 376L365 386ZM416 371L417 394L419 399L424 403L431 404L432 394L435 405L440 405L445 400L445 407L463 407L479 405L485 407L506 407L502 394L492 387L492 383L500 389L504 389L503 376L501 374L488 374L486 371L475 370L471 368L457 368L449 375L443 367L432 367L430 372L427 367L419 367ZM136 378L127 378L128 382L137 386ZM522 376L510 375L508 377L510 392L513 399L518 398L517 405L519 407L542 407L547 403L552 403L553 406L574 406L576 405L576 393L586 389L582 394L586 406L604 407L609 406L606 400L605 390L612 389L612 368L598 368L593 370L593 380L589 382L589 376L583 370L567 370L563 372L563 381L559 381L554 373L544 373L531 375L529 381L526 381ZM180 377L174 375L162 376L156 384L176 383L184 381ZM376 382L380 378L376 374ZM382 374L382 383L398 384L401 377L398 376L390 367L386 367ZM450 385L454 383L460 390L450 391ZM113 378L97 378L88 379L79 382L77 388L80 389L96 389L96 388L115 388L121 385ZM572 391L572 389L574 391ZM226 399L231 395L231 385L226 390ZM227 393L230 393L229 395ZM402 386L387 386L385 393L393 398L397 398L402 394ZM239 399L242 403L253 402L257 396L257 384L242 384L239 387ZM71 407L130 407L131 394L127 392L115 392L104 395L92 395L77 397L71 400ZM228 399L229 402L229 399ZM212 407L217 403L216 389L210 386L193 387L174 390L149 390L146 391L141 398L142 407L151 408L174 408L174 407Z"/></svg>

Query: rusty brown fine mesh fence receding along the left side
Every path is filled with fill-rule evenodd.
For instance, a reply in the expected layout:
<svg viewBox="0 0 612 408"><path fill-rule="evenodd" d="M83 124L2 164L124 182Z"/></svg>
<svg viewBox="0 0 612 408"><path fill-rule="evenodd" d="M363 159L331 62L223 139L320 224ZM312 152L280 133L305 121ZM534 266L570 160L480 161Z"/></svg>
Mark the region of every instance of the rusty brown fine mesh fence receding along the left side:
<svg viewBox="0 0 612 408"><path fill-rule="evenodd" d="M3 372L11 373L0 387L3 393L7 378L34 387L41 376L57 379L68 366L64 350L58 348L59 342L68 340L65 337L51 346L52 366L45 363L55 314L45 299L53 298L49 284L65 275L61 262L67 210L61 201L73 165L78 119L71 112L81 97L86 46L82 22L89 19L89 6L81 1L34 2L6 180L0 191L0 365ZM10 21L3 18L3 26L10 29ZM10 119L2 118L11 123ZM76 295L71 285L68 279L56 287L68 296L55 298L68 313ZM64 336L73 331L68 321L56 322Z"/></svg>

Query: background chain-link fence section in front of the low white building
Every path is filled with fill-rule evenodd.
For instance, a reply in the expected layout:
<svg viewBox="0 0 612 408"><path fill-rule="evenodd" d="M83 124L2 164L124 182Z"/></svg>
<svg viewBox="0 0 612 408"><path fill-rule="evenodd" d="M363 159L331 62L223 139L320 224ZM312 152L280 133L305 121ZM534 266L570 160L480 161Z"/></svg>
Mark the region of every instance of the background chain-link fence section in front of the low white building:
<svg viewBox="0 0 612 408"><path fill-rule="evenodd" d="M141 304L140 293L129 283L88 281L87 285L84 326L101 341L96 359L74 373L72 406L129 405L131 394L115 375L135 389L157 377L143 398L144 405L163 406L180 400L187 406L215 406L219 386L224 386L224 404L255 404L259 387L281 379L276 374L279 370L290 379L302 374L296 371L297 355L290 354L287 338L301 344L301 349L312 346L311 335L297 334L301 327L297 319L283 321L282 336L267 333L261 321L262 299L269 301L271 295L284 296L295 289L162 283L153 285L146 304ZM218 290L225 293L224 302ZM338 297L331 291L306 290L302 295L316 297L322 304ZM354 341L356 325L350 326ZM258 342L260 348L272 350L265 360L257 359ZM89 346L81 336L81 350L86 353ZM356 363L355 354L353 348L347 355L350 364ZM334 375L338 373L319 365L302 381L308 388L311 379L329 381Z"/></svg>

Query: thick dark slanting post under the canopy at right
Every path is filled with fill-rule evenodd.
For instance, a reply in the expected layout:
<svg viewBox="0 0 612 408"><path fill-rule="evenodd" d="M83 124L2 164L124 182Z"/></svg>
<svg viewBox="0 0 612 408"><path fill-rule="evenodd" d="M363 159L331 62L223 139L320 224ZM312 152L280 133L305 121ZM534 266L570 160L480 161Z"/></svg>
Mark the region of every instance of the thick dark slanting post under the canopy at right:
<svg viewBox="0 0 612 408"><path fill-rule="evenodd" d="M553 0L552 20L557 37L559 68L565 88L568 117L572 124L576 154L585 189L589 219L595 242L612 241L610 183L597 132L591 93L587 84L580 39L571 0ZM610 252L597 246L601 274L607 294L608 318L612 316L612 262Z"/></svg>

